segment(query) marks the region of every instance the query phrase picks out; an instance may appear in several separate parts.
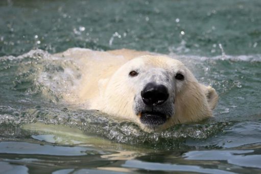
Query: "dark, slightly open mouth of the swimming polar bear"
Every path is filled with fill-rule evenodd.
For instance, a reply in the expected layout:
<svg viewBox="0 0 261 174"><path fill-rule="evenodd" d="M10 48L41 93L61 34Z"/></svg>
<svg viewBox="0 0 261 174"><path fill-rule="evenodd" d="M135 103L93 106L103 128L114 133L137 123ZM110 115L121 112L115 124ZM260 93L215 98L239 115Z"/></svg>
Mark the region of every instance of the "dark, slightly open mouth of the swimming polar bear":
<svg viewBox="0 0 261 174"><path fill-rule="evenodd" d="M141 112L140 122L148 126L158 126L167 121L167 116L160 112Z"/></svg>

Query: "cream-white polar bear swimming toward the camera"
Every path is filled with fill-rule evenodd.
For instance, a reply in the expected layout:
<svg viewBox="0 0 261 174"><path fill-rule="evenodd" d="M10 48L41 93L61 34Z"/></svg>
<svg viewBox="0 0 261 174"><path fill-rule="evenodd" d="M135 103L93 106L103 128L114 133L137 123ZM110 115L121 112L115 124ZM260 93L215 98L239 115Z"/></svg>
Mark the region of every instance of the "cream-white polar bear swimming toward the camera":
<svg viewBox="0 0 261 174"><path fill-rule="evenodd" d="M212 117L218 102L215 89L165 55L74 48L55 56L77 59L82 70L82 81L67 101L133 121L147 132Z"/></svg>

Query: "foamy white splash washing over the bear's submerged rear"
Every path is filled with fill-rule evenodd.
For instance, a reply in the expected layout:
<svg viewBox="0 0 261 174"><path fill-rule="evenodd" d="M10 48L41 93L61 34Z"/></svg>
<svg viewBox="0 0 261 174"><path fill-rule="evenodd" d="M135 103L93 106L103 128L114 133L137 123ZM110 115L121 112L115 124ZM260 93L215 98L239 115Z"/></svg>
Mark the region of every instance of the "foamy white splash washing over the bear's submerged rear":
<svg viewBox="0 0 261 174"><path fill-rule="evenodd" d="M42 95L52 102L58 102L62 94L69 96L68 89L72 90L81 77L75 61L42 50L31 50L17 57L4 56L0 60L9 68L16 68L12 72L13 79L9 79L13 91L24 92L27 96Z"/></svg>

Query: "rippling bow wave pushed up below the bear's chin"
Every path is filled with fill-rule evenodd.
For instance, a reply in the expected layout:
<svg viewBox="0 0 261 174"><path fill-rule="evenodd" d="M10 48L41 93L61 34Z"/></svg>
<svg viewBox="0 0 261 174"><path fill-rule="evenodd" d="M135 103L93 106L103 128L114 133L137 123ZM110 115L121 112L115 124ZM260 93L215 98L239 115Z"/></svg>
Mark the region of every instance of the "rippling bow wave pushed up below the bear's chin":
<svg viewBox="0 0 261 174"><path fill-rule="evenodd" d="M86 135L96 135L118 143L156 149L187 148L184 145L187 139L205 140L229 125L226 122L176 125L163 132L146 133L132 122L116 120L98 111L37 106L20 111L17 113L17 117L13 116L14 111L9 112L9 114L0 116L2 128L7 125L17 128L28 123L67 125L82 130ZM40 130L40 127L38 128ZM12 134L21 136L20 131L17 133L17 130L13 130ZM8 132L2 132L2 135L13 137Z"/></svg>

